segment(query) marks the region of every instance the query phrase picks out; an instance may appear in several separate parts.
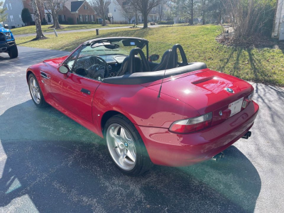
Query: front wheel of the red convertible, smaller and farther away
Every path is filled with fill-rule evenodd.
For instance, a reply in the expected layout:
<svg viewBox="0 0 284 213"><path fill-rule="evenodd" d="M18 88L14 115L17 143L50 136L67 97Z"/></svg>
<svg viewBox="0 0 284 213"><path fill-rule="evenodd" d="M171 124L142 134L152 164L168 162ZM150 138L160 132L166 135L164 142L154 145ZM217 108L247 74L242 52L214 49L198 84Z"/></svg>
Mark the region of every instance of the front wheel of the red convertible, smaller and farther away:
<svg viewBox="0 0 284 213"><path fill-rule="evenodd" d="M36 77L33 74L28 75L28 88L30 89L31 98L36 107L43 108L48 106L43 97L43 93L40 90L38 80L36 80Z"/></svg>

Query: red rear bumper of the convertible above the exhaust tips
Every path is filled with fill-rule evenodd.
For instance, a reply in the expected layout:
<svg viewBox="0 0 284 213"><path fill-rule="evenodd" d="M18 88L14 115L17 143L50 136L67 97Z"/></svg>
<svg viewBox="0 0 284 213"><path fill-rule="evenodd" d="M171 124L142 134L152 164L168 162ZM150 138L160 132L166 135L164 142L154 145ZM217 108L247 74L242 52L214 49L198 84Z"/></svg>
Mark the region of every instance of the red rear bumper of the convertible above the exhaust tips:
<svg viewBox="0 0 284 213"><path fill-rule="evenodd" d="M224 151L251 129L258 114L258 104L222 124L190 134L171 133L168 129L136 126L154 164L185 166L202 162Z"/></svg>

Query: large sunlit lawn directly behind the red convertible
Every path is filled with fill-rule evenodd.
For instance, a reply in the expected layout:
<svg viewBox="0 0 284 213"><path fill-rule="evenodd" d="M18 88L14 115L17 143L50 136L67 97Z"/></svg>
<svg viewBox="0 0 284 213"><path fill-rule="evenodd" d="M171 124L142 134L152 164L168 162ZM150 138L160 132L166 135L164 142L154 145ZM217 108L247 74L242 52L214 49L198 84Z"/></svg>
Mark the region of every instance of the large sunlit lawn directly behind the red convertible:
<svg viewBox="0 0 284 213"><path fill-rule="evenodd" d="M225 72L241 79L284 86L284 49L233 48L217 43L218 26L173 26L148 29L116 29L100 32L100 37L135 36L150 41L150 54L160 57L165 50L180 43L189 62L206 62L212 70ZM66 33L56 38L31 41L33 37L17 38L18 45L53 50L75 49L85 40L96 38L94 32ZM52 42L50 42L52 40Z"/></svg>

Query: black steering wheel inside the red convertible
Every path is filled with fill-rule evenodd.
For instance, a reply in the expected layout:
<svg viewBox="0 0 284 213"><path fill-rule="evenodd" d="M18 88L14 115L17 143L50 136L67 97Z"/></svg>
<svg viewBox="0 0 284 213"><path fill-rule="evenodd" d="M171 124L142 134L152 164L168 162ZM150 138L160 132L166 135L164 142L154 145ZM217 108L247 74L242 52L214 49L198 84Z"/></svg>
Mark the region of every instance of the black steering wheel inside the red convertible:
<svg viewBox="0 0 284 213"><path fill-rule="evenodd" d="M109 67L107 62L99 56L92 56L93 65L87 68L87 75L92 79L102 80L109 77Z"/></svg>

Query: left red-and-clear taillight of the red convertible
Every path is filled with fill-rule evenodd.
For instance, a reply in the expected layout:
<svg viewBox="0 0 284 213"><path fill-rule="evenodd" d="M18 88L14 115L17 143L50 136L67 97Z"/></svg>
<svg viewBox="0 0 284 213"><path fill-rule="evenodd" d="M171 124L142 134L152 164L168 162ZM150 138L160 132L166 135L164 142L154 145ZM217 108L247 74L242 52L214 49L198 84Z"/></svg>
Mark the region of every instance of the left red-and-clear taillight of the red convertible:
<svg viewBox="0 0 284 213"><path fill-rule="evenodd" d="M211 126L212 123L212 112L198 116L192 119L185 119L173 122L170 125L170 131L174 133L191 133L199 131Z"/></svg>

